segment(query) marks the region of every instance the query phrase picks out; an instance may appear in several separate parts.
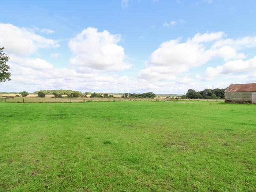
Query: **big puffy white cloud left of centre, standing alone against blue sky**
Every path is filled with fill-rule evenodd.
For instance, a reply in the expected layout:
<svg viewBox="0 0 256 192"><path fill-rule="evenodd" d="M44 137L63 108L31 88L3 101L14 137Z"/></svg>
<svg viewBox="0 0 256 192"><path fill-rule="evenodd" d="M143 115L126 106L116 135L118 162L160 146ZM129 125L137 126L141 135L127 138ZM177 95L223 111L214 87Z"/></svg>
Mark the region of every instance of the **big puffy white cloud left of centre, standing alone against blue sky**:
<svg viewBox="0 0 256 192"><path fill-rule="evenodd" d="M106 30L98 32L88 27L69 41L68 46L73 53L70 63L97 70L128 69L131 65L124 61L124 48L117 45L120 40L119 34L112 35Z"/></svg>

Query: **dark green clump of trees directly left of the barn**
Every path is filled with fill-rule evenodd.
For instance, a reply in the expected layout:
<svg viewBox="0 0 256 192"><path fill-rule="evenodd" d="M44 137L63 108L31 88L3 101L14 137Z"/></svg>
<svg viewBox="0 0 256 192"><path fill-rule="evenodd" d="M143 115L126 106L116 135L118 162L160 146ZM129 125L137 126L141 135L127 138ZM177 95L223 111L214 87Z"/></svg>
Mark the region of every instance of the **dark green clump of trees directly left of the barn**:
<svg viewBox="0 0 256 192"><path fill-rule="evenodd" d="M186 95L182 95L181 98L189 99L224 99L226 89L204 89L203 91L195 91L189 89Z"/></svg>

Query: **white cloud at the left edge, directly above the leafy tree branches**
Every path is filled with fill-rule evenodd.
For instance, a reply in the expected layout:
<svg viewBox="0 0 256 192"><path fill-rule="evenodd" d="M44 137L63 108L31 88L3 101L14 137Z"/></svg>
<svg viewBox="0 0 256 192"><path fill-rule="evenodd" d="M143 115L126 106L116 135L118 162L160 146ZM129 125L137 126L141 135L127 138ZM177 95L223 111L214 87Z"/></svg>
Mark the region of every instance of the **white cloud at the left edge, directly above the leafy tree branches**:
<svg viewBox="0 0 256 192"><path fill-rule="evenodd" d="M0 23L0 45L7 53L29 56L39 48L55 48L59 44L53 39L44 38L27 28Z"/></svg>

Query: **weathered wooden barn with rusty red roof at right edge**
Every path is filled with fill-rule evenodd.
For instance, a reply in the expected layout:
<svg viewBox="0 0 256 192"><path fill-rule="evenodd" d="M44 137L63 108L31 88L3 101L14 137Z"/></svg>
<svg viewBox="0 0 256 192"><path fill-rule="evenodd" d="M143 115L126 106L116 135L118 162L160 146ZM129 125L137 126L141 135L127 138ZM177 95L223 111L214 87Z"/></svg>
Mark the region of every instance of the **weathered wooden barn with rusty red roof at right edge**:
<svg viewBox="0 0 256 192"><path fill-rule="evenodd" d="M231 84L225 90L225 102L256 103L256 83Z"/></svg>

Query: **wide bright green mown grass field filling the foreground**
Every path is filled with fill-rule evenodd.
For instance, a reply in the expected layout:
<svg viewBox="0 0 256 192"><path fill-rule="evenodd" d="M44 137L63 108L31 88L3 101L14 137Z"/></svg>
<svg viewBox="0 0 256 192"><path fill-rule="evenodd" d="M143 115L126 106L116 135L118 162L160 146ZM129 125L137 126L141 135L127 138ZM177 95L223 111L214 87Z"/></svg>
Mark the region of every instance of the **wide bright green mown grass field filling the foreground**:
<svg viewBox="0 0 256 192"><path fill-rule="evenodd" d="M0 191L256 191L256 105L0 103Z"/></svg>

